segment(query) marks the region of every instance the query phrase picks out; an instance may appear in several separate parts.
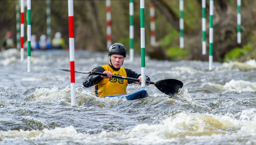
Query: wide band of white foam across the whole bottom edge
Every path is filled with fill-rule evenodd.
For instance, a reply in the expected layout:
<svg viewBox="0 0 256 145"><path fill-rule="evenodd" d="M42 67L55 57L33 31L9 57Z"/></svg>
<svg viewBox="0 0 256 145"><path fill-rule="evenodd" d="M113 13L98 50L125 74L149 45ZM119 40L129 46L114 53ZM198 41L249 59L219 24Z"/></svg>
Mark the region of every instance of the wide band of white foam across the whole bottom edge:
<svg viewBox="0 0 256 145"><path fill-rule="evenodd" d="M220 138L228 136L255 136L256 110L243 110L240 119L229 115L181 112L167 117L156 125L139 124L124 131L101 132L99 134L78 133L73 126L55 129L0 131L2 140L62 140L72 138L75 142L158 144L182 138ZM230 131L231 130L231 131ZM207 141L207 140L206 140Z"/></svg>

